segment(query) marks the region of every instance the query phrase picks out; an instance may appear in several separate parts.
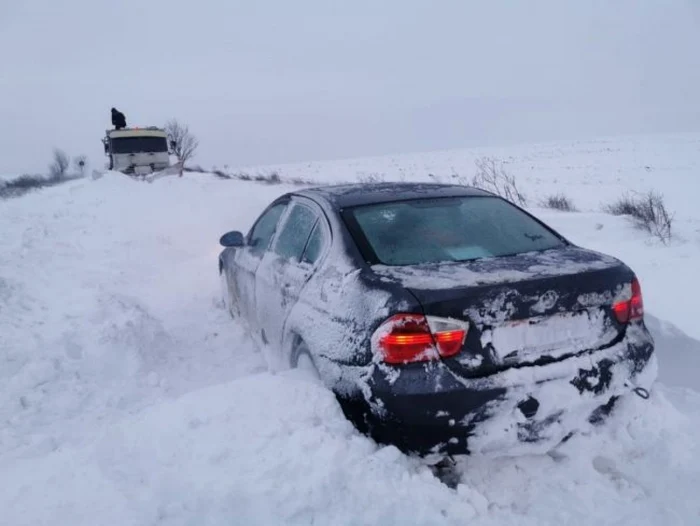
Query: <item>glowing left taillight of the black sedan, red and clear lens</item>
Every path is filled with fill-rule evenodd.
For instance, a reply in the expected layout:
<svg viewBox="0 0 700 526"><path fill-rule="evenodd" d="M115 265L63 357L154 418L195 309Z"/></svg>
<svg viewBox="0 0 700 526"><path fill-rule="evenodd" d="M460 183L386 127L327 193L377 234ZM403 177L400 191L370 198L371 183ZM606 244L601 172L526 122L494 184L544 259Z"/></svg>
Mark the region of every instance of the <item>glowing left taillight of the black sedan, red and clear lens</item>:
<svg viewBox="0 0 700 526"><path fill-rule="evenodd" d="M396 314L375 331L372 347L389 364L449 358L462 350L468 330L459 320Z"/></svg>

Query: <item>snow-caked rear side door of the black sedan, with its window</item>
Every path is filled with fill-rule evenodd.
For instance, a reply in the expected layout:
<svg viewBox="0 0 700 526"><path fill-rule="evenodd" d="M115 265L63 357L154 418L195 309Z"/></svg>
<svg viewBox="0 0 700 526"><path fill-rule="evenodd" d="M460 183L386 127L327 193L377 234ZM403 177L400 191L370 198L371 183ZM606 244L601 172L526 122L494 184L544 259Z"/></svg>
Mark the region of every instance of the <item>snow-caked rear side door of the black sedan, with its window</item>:
<svg viewBox="0 0 700 526"><path fill-rule="evenodd" d="M321 216L315 204L295 199L283 218L272 249L256 272L256 317L264 342L279 351L291 307L313 273L305 249ZM313 237L314 239L316 236Z"/></svg>

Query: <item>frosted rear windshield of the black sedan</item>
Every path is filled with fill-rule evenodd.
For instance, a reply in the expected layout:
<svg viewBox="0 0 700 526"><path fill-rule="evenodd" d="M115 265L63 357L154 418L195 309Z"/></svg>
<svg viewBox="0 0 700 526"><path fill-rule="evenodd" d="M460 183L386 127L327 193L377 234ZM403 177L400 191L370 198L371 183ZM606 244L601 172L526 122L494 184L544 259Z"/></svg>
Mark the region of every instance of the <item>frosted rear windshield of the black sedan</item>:
<svg viewBox="0 0 700 526"><path fill-rule="evenodd" d="M358 206L345 214L361 233L360 245L374 253L368 259L385 265L470 261L565 244L497 197L416 199Z"/></svg>

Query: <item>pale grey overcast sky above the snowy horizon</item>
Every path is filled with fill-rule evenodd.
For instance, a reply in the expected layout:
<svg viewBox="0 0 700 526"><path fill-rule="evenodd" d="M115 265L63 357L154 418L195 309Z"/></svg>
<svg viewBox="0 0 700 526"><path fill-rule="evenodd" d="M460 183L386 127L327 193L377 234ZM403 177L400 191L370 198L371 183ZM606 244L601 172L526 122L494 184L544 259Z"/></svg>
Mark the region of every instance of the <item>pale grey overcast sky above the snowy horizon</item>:
<svg viewBox="0 0 700 526"><path fill-rule="evenodd" d="M0 173L112 106L207 168L700 131L700 1L0 0Z"/></svg>

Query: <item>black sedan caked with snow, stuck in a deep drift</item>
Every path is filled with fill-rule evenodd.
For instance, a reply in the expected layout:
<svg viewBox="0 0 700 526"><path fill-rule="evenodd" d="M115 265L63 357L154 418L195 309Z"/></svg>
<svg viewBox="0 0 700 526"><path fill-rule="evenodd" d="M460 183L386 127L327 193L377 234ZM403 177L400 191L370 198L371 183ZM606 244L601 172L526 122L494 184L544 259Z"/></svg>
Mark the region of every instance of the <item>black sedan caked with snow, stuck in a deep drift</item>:
<svg viewBox="0 0 700 526"><path fill-rule="evenodd" d="M656 377L635 274L482 190L305 189L220 242L226 304L276 366L404 451L546 450Z"/></svg>

